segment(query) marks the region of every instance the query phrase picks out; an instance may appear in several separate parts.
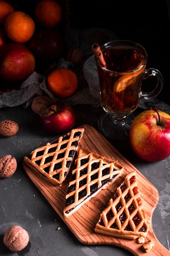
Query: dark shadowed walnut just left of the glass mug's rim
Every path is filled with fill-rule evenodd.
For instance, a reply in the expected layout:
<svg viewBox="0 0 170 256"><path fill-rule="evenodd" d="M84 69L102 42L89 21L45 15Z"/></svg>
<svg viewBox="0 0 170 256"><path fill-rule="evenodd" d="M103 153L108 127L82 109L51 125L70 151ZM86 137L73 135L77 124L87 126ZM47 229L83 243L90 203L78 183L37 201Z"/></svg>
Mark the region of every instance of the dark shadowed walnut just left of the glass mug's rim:
<svg viewBox="0 0 170 256"><path fill-rule="evenodd" d="M78 66L83 61L83 52L79 48L71 47L66 56L66 61L70 61L74 66Z"/></svg>

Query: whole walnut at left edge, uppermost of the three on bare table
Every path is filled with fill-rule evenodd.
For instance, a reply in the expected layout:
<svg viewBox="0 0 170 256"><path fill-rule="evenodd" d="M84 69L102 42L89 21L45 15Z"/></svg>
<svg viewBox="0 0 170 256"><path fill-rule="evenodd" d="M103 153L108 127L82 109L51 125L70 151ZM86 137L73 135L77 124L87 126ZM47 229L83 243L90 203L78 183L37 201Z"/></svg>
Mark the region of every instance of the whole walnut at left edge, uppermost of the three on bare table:
<svg viewBox="0 0 170 256"><path fill-rule="evenodd" d="M17 123L11 120L4 120L0 123L0 134L6 137L12 137L18 132Z"/></svg>

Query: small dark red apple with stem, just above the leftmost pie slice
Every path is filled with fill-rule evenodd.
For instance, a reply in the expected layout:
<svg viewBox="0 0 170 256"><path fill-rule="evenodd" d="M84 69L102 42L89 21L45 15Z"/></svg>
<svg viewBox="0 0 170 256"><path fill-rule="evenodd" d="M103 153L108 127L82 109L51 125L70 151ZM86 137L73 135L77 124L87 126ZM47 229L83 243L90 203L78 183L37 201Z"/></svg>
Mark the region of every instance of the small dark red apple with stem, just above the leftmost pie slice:
<svg viewBox="0 0 170 256"><path fill-rule="evenodd" d="M71 130L76 115L71 106L63 102L54 103L48 110L41 113L41 124L48 133L63 133Z"/></svg>

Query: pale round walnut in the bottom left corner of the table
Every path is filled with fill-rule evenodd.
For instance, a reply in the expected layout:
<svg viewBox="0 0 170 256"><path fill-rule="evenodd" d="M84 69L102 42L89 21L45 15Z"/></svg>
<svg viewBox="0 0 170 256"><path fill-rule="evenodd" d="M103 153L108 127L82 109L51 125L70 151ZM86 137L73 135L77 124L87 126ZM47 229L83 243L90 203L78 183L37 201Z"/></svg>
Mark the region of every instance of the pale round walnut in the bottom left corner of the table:
<svg viewBox="0 0 170 256"><path fill-rule="evenodd" d="M28 244L29 235L25 229L15 225L6 230L3 241L12 252L18 252Z"/></svg>

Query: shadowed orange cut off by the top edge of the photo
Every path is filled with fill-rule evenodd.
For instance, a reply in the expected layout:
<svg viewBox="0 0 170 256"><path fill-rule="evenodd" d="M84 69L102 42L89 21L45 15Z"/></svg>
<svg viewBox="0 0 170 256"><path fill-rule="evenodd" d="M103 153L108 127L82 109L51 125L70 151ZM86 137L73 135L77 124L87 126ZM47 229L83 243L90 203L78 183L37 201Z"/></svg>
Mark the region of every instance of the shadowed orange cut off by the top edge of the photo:
<svg viewBox="0 0 170 256"><path fill-rule="evenodd" d="M54 0L41 0L35 7L34 17L44 27L55 27L61 22L61 5Z"/></svg>

